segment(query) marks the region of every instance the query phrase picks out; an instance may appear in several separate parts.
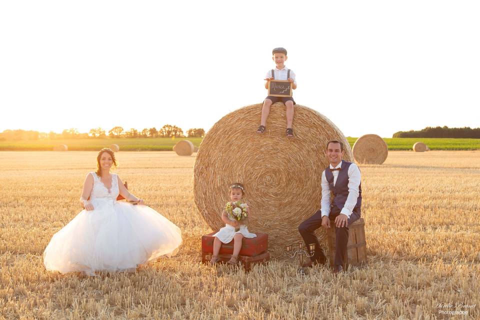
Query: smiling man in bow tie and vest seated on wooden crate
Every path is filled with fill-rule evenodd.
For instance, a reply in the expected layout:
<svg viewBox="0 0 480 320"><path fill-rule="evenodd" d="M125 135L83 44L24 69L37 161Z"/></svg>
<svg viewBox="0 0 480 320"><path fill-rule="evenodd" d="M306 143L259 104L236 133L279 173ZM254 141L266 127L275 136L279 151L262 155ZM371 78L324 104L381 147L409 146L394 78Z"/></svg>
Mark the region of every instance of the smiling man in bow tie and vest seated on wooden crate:
<svg viewBox="0 0 480 320"><path fill-rule="evenodd" d="M315 230L321 226L329 228L335 223L335 259L333 272L343 271L348 242L348 224L360 218L361 186L360 170L355 163L342 160L343 143L328 141L326 156L330 165L321 173L321 208L298 226L306 247L315 244L311 261L305 266L325 264L326 258L315 236ZM333 203L330 201L333 194Z"/></svg>

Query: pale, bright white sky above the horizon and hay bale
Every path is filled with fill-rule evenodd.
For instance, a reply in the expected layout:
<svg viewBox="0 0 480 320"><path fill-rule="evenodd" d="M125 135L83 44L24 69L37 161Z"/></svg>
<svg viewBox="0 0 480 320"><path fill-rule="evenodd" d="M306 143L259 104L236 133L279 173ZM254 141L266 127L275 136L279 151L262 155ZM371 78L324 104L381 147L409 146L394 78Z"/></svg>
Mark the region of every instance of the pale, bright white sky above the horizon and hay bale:
<svg viewBox="0 0 480 320"><path fill-rule="evenodd" d="M0 132L208 130L264 99L277 46L295 101L345 136L478 127L478 16L468 0L1 1Z"/></svg>

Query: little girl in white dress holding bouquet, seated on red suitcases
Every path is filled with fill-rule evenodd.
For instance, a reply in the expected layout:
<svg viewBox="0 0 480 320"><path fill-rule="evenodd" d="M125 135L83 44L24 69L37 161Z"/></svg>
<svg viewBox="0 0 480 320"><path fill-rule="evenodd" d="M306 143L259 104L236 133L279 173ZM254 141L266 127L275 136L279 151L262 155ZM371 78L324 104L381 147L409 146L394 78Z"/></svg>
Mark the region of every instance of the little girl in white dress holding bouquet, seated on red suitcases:
<svg viewBox="0 0 480 320"><path fill-rule="evenodd" d="M248 232L248 229L244 224L244 218L250 216L250 208L245 202L241 201L241 198L244 194L245 189L243 188L243 185L241 183L235 182L230 185L231 202L227 202L225 208L223 208L223 211L221 212L221 219L223 222L225 222L225 226L218 230L218 232L213 234L215 240L213 240L213 256L210 260L210 264L215 264L218 261L218 252L220 251L221 243L228 243L231 241L231 239L233 239L233 254L231 255L230 260L226 263L236 264L238 259L238 253L240 252L241 248L241 239L243 237L256 237L255 233ZM237 208L235 212L240 212L239 214L243 215L243 218L241 220L235 219L232 214L232 211L235 210L232 210L232 206L236 206L235 202L240 202L239 208L241 211L239 211ZM244 212L245 210L246 213ZM239 228L239 230L236 231L236 228Z"/></svg>

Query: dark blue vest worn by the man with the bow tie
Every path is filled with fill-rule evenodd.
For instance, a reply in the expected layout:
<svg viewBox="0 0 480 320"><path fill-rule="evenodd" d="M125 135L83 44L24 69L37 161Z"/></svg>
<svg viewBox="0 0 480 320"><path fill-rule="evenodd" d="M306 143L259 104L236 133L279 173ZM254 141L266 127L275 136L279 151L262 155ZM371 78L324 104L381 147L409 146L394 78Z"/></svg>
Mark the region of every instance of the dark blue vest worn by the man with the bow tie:
<svg viewBox="0 0 480 320"><path fill-rule="evenodd" d="M333 185L333 173L330 171L330 166L325 169L325 177L330 185L330 191L333 192L333 201L332 206L336 205L339 210L345 205L346 198L348 197L348 167L351 162L341 160L341 170L338 172L336 177L336 183ZM358 198L356 200L355 207L353 212L360 216L360 206L361 206L361 182L358 185Z"/></svg>

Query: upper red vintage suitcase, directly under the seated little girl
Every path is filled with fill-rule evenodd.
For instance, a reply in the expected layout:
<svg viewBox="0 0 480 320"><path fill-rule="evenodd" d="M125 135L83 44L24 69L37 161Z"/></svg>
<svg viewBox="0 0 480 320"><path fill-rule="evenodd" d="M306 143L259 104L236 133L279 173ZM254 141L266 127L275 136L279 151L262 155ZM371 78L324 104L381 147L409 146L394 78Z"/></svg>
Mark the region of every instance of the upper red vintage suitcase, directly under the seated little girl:
<svg viewBox="0 0 480 320"><path fill-rule="evenodd" d="M201 252L212 253L213 252L213 239L215 238L211 232L201 236ZM256 233L254 238L243 238L241 242L240 253L238 255L254 256L258 255L268 249L268 234ZM220 254L233 253L233 240L228 243L222 243L220 247Z"/></svg>

